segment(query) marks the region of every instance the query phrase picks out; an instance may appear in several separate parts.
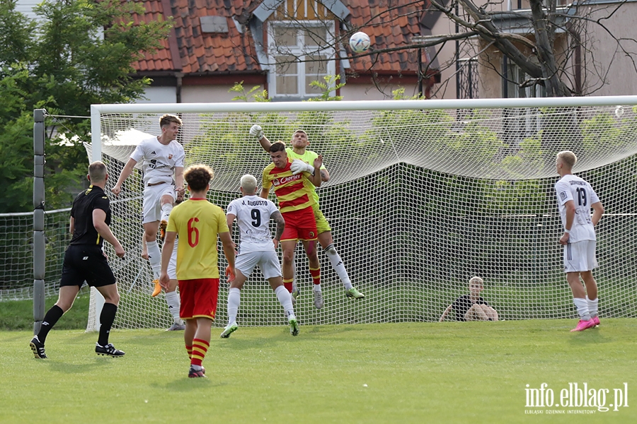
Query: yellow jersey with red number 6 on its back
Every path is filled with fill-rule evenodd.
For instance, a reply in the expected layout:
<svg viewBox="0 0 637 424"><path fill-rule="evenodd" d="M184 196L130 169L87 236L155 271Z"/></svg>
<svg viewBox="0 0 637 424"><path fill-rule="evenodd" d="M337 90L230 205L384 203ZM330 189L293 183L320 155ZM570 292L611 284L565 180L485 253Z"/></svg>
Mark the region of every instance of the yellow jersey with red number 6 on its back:
<svg viewBox="0 0 637 424"><path fill-rule="evenodd" d="M222 208L189 199L173 208L166 231L177 232L177 279L219 278L217 235L229 232Z"/></svg>

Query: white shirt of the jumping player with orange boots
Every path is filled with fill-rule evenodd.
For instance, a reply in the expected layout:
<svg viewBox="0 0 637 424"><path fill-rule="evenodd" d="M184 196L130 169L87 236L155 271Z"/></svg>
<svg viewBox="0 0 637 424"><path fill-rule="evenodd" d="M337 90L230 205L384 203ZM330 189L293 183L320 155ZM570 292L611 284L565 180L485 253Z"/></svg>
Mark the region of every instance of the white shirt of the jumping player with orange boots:
<svg viewBox="0 0 637 424"><path fill-rule="evenodd" d="M142 140L130 158L142 163L144 185L166 182L172 184L175 167L183 167L183 146L173 140L168 145L159 143L157 137Z"/></svg>

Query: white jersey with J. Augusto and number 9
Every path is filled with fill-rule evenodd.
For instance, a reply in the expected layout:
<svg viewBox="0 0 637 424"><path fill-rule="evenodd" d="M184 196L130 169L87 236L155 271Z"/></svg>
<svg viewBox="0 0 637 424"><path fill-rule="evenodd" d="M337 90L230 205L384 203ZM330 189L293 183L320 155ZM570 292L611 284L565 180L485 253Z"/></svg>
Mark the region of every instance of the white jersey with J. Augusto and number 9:
<svg viewBox="0 0 637 424"><path fill-rule="evenodd" d="M226 215L236 216L239 225L239 254L274 250L270 233L270 216L277 206L259 196L243 196L228 205Z"/></svg>

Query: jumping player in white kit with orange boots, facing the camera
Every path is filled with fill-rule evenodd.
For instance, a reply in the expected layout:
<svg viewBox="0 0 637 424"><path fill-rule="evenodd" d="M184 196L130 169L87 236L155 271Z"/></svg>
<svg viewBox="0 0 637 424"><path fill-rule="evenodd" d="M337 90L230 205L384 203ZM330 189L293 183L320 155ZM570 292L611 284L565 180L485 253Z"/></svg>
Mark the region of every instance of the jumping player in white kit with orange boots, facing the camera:
<svg viewBox="0 0 637 424"><path fill-rule="evenodd" d="M132 173L137 163L142 162L144 174L144 204L142 206L142 225L144 226L144 241L146 249L142 256L148 257L153 270L155 285L152 296L161 293L159 274L161 272L161 252L157 243L157 231L161 228L161 235L168 225L168 216L173 210L175 202L183 200L183 146L176 141L181 119L171 114L164 114L159 118L161 135L142 140L126 163L115 187L110 191L118 195L122 191L122 184ZM173 179L174 177L174 179ZM168 288L170 290L170 288ZM179 296L171 295L176 288L166 290L166 303L170 310L179 310ZM172 327L171 327L172 328Z"/></svg>

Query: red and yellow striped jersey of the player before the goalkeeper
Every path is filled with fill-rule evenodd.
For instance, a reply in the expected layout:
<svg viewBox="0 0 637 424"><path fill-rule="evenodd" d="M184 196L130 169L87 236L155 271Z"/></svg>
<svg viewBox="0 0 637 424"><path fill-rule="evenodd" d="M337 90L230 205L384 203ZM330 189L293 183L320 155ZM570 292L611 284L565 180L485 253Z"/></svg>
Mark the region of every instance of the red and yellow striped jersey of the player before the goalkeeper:
<svg viewBox="0 0 637 424"><path fill-rule="evenodd" d="M308 178L310 174L301 172L292 175L289 165L292 162L288 159L284 168L277 168L270 163L263 170L263 188L269 191L274 186L281 213L299 211L316 203L312 196L314 184Z"/></svg>

